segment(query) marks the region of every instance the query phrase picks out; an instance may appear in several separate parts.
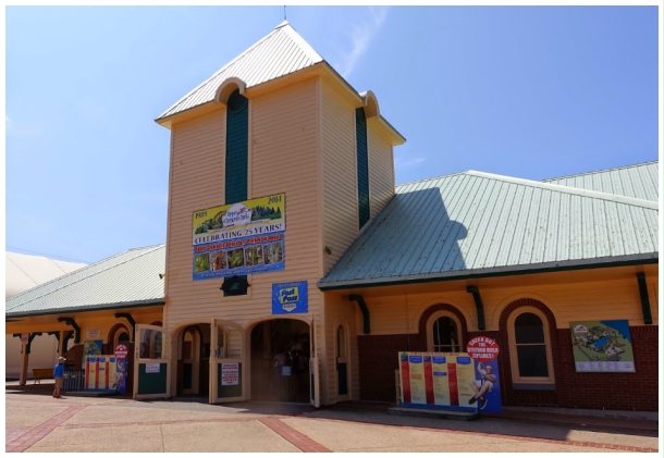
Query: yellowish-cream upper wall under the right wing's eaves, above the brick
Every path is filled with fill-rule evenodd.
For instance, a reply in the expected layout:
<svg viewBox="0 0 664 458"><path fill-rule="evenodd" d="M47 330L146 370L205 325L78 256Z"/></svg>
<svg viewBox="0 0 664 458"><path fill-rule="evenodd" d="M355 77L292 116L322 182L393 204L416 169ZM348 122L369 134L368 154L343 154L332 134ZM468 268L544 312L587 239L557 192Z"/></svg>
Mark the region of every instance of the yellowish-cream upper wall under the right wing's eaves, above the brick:
<svg viewBox="0 0 664 458"><path fill-rule="evenodd" d="M647 280L653 323L659 320L659 274L649 265ZM556 318L558 329L571 321L629 320L643 325L639 285L635 268L574 271L538 275L487 278L479 283L484 305L487 331L496 331L501 312L514 300L533 298L542 301ZM467 283L443 282L408 287L371 288L364 295L371 314L371 334L418 333L419 319L435 304L450 304L466 317L468 331L478 331L477 309ZM361 313L356 312L356 326ZM358 327L361 329L361 327Z"/></svg>

